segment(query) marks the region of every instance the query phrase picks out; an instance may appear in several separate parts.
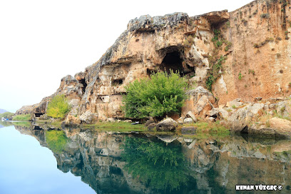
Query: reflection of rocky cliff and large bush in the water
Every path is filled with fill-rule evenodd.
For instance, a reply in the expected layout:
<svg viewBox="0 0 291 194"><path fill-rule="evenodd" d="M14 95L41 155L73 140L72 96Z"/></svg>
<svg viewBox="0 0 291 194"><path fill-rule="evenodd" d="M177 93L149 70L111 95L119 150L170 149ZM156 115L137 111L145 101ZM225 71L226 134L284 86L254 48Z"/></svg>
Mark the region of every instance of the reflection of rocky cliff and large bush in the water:
<svg viewBox="0 0 291 194"><path fill-rule="evenodd" d="M43 129L16 129L48 146ZM283 185L290 193L289 140L64 132L66 148L54 153L58 169L81 176L97 193L235 193L237 184Z"/></svg>

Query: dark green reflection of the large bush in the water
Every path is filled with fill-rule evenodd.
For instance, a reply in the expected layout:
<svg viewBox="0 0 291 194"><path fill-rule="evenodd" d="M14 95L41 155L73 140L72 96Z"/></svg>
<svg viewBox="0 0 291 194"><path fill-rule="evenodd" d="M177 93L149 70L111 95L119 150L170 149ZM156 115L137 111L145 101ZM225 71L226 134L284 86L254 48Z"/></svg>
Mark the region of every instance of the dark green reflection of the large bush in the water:
<svg viewBox="0 0 291 194"><path fill-rule="evenodd" d="M157 190L178 190L187 183L186 168L180 146L127 138L122 153L126 170Z"/></svg>

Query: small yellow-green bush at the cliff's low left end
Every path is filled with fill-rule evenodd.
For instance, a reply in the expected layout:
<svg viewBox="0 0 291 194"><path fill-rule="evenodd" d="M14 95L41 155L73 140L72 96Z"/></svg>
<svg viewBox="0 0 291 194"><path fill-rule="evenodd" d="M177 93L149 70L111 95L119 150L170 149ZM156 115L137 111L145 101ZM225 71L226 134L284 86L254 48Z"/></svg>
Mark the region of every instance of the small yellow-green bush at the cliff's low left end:
<svg viewBox="0 0 291 194"><path fill-rule="evenodd" d="M66 97L64 95L58 95L54 96L51 102L48 103L46 113L53 118L64 118L70 110L71 106L68 104Z"/></svg>

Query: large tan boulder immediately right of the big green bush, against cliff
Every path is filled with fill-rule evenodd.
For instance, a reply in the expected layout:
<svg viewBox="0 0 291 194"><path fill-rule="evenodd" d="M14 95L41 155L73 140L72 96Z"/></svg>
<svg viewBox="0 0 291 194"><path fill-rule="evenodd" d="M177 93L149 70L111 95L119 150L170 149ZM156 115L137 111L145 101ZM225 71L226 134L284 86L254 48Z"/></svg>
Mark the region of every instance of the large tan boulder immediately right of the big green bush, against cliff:
<svg viewBox="0 0 291 194"><path fill-rule="evenodd" d="M188 96L188 100L185 101L185 105L182 108L183 117L191 111L195 116L205 118L207 112L217 106L213 94L201 86L188 91L186 95Z"/></svg>

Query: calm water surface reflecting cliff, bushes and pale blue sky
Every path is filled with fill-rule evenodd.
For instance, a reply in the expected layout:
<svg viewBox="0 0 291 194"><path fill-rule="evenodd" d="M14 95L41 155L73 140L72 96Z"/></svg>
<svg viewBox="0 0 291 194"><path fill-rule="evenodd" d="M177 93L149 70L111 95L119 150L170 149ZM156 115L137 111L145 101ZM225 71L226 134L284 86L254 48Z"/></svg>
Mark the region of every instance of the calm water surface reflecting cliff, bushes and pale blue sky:
<svg viewBox="0 0 291 194"><path fill-rule="evenodd" d="M291 193L290 140L18 125L0 128L0 193Z"/></svg>

